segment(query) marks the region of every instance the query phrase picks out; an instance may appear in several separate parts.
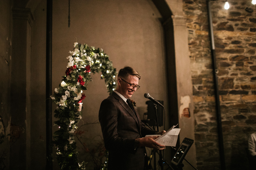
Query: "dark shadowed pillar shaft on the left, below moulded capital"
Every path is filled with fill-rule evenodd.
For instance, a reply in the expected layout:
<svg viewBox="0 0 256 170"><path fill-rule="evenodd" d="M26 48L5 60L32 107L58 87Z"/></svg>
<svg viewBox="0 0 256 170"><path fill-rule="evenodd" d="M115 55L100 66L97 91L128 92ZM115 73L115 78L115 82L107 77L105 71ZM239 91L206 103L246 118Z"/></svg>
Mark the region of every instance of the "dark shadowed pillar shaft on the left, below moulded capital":
<svg viewBox="0 0 256 170"><path fill-rule="evenodd" d="M32 15L12 9L10 169L30 169L30 55Z"/></svg>

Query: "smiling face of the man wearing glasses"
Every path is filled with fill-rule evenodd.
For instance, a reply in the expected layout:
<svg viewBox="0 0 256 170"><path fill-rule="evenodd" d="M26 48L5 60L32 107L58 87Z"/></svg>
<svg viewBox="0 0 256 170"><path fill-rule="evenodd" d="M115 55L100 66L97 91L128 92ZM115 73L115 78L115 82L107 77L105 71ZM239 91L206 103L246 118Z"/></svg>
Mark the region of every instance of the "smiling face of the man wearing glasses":
<svg viewBox="0 0 256 170"><path fill-rule="evenodd" d="M132 97L132 94L136 91L136 88L130 89L130 84L133 84L135 86L138 85L139 78L135 75L129 75L127 78L123 78L123 79L128 83L122 80L121 78L119 78L118 85L120 88L118 89L117 92L126 98L130 98Z"/></svg>

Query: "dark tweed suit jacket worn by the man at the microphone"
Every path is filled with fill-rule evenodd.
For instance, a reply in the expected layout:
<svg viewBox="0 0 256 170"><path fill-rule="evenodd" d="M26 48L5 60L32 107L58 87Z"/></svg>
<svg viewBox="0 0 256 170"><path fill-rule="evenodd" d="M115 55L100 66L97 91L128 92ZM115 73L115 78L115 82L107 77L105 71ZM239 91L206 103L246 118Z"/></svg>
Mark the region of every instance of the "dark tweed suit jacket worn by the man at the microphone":
<svg viewBox="0 0 256 170"><path fill-rule="evenodd" d="M108 170L143 170L145 148L134 149L134 141L147 134L155 134L140 121L118 94L113 92L103 100L99 110L99 121L108 150Z"/></svg>

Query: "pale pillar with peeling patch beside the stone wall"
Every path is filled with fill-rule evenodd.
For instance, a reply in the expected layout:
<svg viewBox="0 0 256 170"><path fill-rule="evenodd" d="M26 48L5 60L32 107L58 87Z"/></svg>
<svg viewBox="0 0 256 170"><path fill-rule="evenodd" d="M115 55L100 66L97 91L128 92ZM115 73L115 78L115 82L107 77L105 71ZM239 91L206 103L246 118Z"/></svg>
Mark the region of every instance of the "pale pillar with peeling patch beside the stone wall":
<svg viewBox="0 0 256 170"><path fill-rule="evenodd" d="M172 15L172 21L177 77L179 127L181 128L180 142L182 142L185 137L193 140L195 139L193 88L191 80L186 18L181 15ZM185 159L188 160L193 166L196 166L195 144L192 145ZM184 170L192 168L190 165L186 165L186 161L183 161L183 163L185 165Z"/></svg>

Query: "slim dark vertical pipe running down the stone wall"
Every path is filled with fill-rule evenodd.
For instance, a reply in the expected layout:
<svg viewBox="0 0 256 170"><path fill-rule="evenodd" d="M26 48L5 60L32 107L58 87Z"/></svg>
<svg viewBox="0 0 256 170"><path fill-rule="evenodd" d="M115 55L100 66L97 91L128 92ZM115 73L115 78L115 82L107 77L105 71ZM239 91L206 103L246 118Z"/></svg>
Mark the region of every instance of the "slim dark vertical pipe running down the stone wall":
<svg viewBox="0 0 256 170"><path fill-rule="evenodd" d="M221 169L225 170L226 166L225 166L225 156L224 156L224 145L223 145L223 134L222 134L221 112L220 112L220 97L219 97L218 75L217 75L218 69L216 66L213 21L212 21L210 0L207 0L207 12L208 12L208 21L209 21L209 32L210 32L210 38L211 38L211 54L212 54L212 61L213 61L213 77L214 77L217 128L218 128L218 138L219 138L220 164L221 164Z"/></svg>

